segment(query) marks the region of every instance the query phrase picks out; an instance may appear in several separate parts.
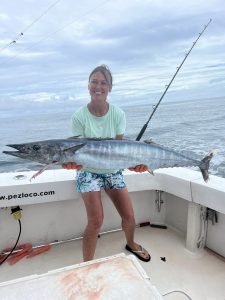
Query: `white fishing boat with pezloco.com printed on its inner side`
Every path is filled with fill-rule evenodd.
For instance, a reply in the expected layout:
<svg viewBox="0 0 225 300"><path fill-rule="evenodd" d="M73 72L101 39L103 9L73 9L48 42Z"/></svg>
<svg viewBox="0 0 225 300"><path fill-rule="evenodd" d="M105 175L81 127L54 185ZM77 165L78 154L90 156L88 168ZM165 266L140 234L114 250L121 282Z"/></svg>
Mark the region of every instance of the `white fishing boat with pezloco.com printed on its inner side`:
<svg viewBox="0 0 225 300"><path fill-rule="evenodd" d="M206 183L200 172L177 167L155 170L154 176L124 170L135 241L148 249L151 261L125 250L120 217L102 191L104 224L95 259L84 263L86 212L75 171L46 170L30 181L32 175L0 174L0 252L6 255L4 249L16 242L15 208L22 216L18 246L51 248L0 265L1 300L225 299L225 178L210 175Z"/></svg>

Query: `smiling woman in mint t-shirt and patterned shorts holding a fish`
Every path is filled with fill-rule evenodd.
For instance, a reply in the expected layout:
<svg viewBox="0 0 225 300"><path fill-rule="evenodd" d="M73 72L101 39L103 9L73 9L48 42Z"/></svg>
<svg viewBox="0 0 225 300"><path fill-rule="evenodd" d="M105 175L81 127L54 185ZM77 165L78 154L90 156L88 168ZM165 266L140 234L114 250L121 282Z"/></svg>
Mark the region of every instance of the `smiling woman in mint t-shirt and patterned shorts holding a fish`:
<svg viewBox="0 0 225 300"><path fill-rule="evenodd" d="M72 131L74 136L122 139L126 119L125 113L109 104L108 94L112 90L112 74L107 66L96 67L89 76L88 90L91 100L73 114ZM98 234L103 223L101 189L112 200L122 219L122 229L126 236L126 249L143 261L149 261L150 255L134 241L135 219L129 193L121 170L95 170L83 168L75 163L63 165L66 169L77 169L77 190L81 192L87 211L87 226L83 236L83 259L92 260L96 249ZM130 168L144 172L146 166Z"/></svg>

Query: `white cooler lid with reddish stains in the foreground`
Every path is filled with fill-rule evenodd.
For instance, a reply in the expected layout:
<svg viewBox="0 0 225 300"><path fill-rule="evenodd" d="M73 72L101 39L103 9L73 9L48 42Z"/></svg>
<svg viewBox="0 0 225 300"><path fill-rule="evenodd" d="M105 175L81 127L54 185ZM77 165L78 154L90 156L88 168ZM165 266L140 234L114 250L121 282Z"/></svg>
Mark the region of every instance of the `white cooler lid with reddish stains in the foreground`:
<svg viewBox="0 0 225 300"><path fill-rule="evenodd" d="M162 300L133 255L118 254L0 284L1 300Z"/></svg>

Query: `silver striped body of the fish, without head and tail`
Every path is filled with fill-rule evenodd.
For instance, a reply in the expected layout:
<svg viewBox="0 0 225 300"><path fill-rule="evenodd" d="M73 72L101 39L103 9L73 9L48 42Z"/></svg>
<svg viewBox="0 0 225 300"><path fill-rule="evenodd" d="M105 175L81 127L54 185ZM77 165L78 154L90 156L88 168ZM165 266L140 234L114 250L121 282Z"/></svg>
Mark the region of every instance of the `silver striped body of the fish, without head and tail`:
<svg viewBox="0 0 225 300"><path fill-rule="evenodd" d="M66 153L65 160L71 158ZM88 141L73 161L95 169L126 169L144 164L150 169L197 166L198 161L156 144L125 140Z"/></svg>

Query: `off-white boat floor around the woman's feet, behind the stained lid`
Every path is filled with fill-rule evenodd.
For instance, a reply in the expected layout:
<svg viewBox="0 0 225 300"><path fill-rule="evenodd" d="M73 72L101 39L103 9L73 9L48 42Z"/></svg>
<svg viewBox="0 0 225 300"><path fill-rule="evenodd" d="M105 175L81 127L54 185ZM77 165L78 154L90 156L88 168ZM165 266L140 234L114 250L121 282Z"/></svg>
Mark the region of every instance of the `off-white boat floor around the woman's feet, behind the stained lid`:
<svg viewBox="0 0 225 300"><path fill-rule="evenodd" d="M225 261L204 249L197 254L185 248L185 237L171 229L150 226L136 229L136 241L151 253L152 259L139 261L160 294L169 294L163 299L225 300ZM103 258L124 252L125 239L122 231L101 235L95 258ZM43 274L50 270L82 262L82 240L57 244L49 252L31 259L23 258L15 265L5 262L0 266L0 282L32 274ZM161 257L165 257L163 261ZM7 299L4 299L7 300ZM51 299L49 299L51 300ZM119 299L118 299L119 300Z"/></svg>

